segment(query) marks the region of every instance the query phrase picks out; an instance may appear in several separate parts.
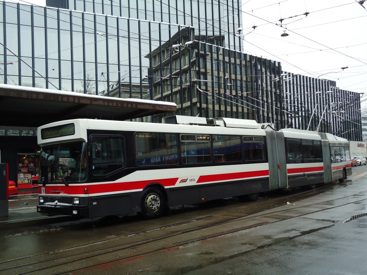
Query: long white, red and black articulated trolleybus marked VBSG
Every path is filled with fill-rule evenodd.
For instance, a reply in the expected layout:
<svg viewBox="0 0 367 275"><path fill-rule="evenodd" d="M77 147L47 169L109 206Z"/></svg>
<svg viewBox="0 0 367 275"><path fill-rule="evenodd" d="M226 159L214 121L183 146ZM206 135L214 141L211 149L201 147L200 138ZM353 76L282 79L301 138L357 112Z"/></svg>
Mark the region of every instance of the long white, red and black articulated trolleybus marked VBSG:
<svg viewBox="0 0 367 275"><path fill-rule="evenodd" d="M163 123L75 119L38 128L45 215L101 217L313 189L352 174L349 142L252 120L174 116Z"/></svg>

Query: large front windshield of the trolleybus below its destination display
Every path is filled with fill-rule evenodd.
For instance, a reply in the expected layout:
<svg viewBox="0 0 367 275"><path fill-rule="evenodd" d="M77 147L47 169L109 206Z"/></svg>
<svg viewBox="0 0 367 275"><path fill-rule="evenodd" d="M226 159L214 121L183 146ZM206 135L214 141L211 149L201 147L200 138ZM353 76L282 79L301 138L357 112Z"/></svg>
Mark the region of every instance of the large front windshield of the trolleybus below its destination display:
<svg viewBox="0 0 367 275"><path fill-rule="evenodd" d="M87 179L86 143L61 143L44 146L40 154L40 183L72 182Z"/></svg>

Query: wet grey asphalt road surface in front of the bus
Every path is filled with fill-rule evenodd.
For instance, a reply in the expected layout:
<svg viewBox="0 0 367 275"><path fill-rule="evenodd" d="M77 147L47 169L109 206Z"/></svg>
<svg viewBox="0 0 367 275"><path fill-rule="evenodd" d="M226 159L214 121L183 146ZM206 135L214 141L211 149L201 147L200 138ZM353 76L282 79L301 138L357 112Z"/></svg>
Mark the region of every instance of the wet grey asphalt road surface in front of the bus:
<svg viewBox="0 0 367 275"><path fill-rule="evenodd" d="M229 200L220 205L172 209L171 215L152 221L131 216L117 220L104 218L75 221L66 218L59 223L54 223L53 220L44 225L25 226L19 223L20 227L9 228L0 223L0 261L147 229L152 230L147 235L153 236L157 227L239 208L237 212L226 212L213 220L208 218L206 224L218 219L237 217L241 211L246 212L242 215L248 214L248 219L215 229L189 232L185 236L169 239L166 243L150 243L143 248L137 247L136 250L139 251L134 248L129 251L121 250L120 255L115 257L117 260L74 274L367 274L367 192L363 192L367 191L366 166L353 168L353 173L355 175L349 177L347 182L335 183L333 187L325 188L324 192L313 194L316 196L305 195L304 199L300 200L298 197L294 202L284 198L282 202L272 205L271 209L256 206L257 202L247 203L250 208L241 209L239 206L243 203ZM280 196L284 197L284 194ZM262 200L265 199L258 202ZM25 201L28 205L24 205ZM33 202L34 198L30 198L11 203L18 203L19 207L14 206L19 208L17 211L27 211L27 206L33 207ZM345 222L350 217L354 219ZM254 224L261 225L250 227ZM187 228L189 225L184 226ZM184 241L246 226L250 228L212 238ZM183 243L180 245L180 242ZM108 242L101 242L98 246L107 244ZM168 248L162 249L163 246ZM143 254L155 249L158 251ZM134 253L141 254L118 260ZM88 261L93 263L94 259L90 258ZM105 256L105 261L110 261L110 257ZM59 274L66 270L60 266L47 273Z"/></svg>

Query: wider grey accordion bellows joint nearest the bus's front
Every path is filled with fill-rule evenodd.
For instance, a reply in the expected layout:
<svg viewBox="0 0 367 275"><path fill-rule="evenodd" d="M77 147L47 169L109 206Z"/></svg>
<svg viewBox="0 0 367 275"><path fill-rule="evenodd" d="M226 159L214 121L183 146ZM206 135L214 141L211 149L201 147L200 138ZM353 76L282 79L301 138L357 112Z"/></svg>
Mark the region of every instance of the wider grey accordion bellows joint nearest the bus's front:
<svg viewBox="0 0 367 275"><path fill-rule="evenodd" d="M288 188L284 134L268 130L266 131L266 142L268 147L270 190Z"/></svg>

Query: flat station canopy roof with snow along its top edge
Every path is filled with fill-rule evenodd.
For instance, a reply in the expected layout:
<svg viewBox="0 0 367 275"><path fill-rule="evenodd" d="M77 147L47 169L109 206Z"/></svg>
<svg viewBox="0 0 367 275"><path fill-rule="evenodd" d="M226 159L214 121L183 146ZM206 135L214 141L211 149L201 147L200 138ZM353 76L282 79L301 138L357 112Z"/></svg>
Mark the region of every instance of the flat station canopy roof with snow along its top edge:
<svg viewBox="0 0 367 275"><path fill-rule="evenodd" d="M34 129L73 118L129 120L175 112L176 104L0 84L0 129Z"/></svg>

